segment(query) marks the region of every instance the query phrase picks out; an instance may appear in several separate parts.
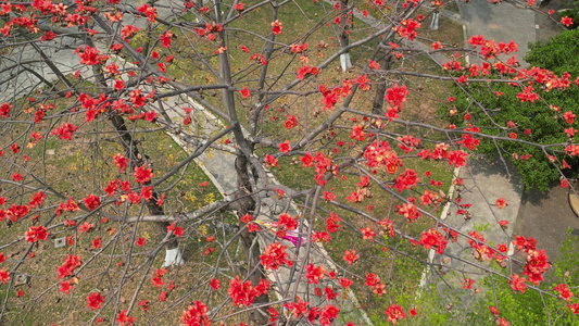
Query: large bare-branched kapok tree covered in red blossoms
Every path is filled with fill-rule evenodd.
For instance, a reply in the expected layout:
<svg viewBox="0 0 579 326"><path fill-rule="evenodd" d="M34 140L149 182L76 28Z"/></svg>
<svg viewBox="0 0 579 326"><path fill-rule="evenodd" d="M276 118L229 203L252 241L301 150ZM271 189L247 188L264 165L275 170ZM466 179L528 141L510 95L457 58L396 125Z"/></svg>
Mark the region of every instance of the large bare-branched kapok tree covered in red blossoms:
<svg viewBox="0 0 579 326"><path fill-rule="evenodd" d="M440 215L468 215L449 187L480 139L521 141L440 120L449 86L567 77L496 59L513 42L425 46L425 3L1 3L0 319L397 323L449 258L579 312L533 239Z"/></svg>

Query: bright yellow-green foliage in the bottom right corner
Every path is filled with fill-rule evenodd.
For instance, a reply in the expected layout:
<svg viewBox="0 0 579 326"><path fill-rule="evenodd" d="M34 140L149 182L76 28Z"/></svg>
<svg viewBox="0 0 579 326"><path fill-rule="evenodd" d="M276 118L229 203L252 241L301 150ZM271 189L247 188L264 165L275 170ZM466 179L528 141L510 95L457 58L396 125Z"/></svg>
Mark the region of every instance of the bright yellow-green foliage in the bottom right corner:
<svg viewBox="0 0 579 326"><path fill-rule="evenodd" d="M489 276L482 280L482 291L478 294L461 290L444 291L441 285L430 285L416 298L401 294L397 297L397 302L417 308L418 316L408 319L410 325L496 325L490 306L495 306L499 317L513 326L579 325L579 318L567 308L568 303L557 298L558 293L552 290L558 284L567 284L571 292L577 292L578 249L579 238L569 230L551 274L540 285L541 289L555 297L542 294L541 298L541 293L532 289L527 289L525 293L514 291L505 278ZM576 300L574 297L571 303Z"/></svg>

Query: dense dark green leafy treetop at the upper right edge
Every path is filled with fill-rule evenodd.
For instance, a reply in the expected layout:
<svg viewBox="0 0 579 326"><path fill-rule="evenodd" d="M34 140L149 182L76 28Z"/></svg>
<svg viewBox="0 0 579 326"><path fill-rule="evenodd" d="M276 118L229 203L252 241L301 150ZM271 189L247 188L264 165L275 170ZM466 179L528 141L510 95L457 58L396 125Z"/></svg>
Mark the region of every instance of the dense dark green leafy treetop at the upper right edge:
<svg viewBox="0 0 579 326"><path fill-rule="evenodd" d="M481 127L481 131L488 135L509 137L515 133L518 139L534 142L539 145L559 143L561 146L545 148L547 154L557 158L555 164L562 167L565 159L572 168L567 177L575 177L572 171L576 171L579 161L564 154L564 145L568 142L568 137L564 129L574 127L578 128L577 121L569 125L562 117L567 111L574 111L578 106L579 87L572 83L572 78L579 75L579 32L566 30L554 37L546 43L537 42L531 45L531 51L525 58L530 66L539 66L554 72L562 77L565 72L571 75L571 85L569 88L546 90L537 83L533 84L533 91L542 100L534 102L521 102L517 95L528 84L478 84L473 83L464 86L466 92L455 88L456 101L454 105L457 113L449 118L450 123L456 126L466 126L464 115L471 115L471 123ZM493 75L493 78L501 78L501 75ZM503 77L504 78L504 77ZM496 92L502 95L498 96ZM468 96L467 96L468 93ZM561 113L556 113L551 104L561 108ZM481 109L484 108L484 109ZM448 108L441 109L441 113ZM508 122L516 126L509 127ZM525 133L530 130L530 135ZM506 160L512 161L523 175L527 188L537 186L540 190L547 190L550 185L559 178L558 170L550 163L547 156L541 147L529 146L520 142L481 139L477 149L478 153L487 154L496 160L496 154L501 153ZM528 160L521 160L520 156L530 155Z"/></svg>

